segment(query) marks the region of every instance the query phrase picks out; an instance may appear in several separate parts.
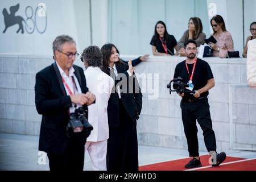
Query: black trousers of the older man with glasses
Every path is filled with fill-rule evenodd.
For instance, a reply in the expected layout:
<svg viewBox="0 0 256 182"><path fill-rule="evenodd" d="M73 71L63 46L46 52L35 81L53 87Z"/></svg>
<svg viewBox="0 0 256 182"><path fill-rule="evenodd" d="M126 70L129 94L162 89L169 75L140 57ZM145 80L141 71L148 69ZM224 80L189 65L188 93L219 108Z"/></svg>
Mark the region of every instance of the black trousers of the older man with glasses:
<svg viewBox="0 0 256 182"><path fill-rule="evenodd" d="M61 154L47 153L50 171L82 171L84 169L85 139L68 139L68 146Z"/></svg>

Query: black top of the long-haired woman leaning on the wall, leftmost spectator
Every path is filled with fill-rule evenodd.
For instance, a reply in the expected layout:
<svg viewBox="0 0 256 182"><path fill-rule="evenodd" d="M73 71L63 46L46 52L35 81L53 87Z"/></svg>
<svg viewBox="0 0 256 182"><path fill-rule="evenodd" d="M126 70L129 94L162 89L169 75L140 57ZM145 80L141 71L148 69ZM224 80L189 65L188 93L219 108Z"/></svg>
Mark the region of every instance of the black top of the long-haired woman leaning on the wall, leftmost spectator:
<svg viewBox="0 0 256 182"><path fill-rule="evenodd" d="M168 35L168 41L166 41L166 44L167 44L167 48L174 54L174 47L177 45L177 41L173 35ZM166 53L166 51L164 51L162 42L159 39L159 36L156 39L153 36L151 39L150 45L155 46L158 52ZM168 51L168 54L171 54L171 53Z"/></svg>

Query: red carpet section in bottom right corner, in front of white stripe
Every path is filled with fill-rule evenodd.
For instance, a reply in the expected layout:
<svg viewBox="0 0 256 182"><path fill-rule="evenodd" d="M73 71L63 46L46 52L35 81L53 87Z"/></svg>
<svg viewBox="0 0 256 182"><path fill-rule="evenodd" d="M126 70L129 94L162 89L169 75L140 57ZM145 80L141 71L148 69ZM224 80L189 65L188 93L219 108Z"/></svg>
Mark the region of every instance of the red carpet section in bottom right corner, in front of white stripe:
<svg viewBox="0 0 256 182"><path fill-rule="evenodd" d="M198 169L196 171L215 171L216 168L209 167L205 169ZM233 164L221 165L218 171L256 171L256 159L247 160L244 162L237 162Z"/></svg>

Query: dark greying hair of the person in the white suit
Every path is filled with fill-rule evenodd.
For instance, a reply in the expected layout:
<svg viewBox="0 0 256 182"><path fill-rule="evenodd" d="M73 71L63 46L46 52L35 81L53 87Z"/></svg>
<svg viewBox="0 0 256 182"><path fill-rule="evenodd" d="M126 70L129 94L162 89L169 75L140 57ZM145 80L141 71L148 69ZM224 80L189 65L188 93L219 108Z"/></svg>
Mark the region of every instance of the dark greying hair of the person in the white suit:
<svg viewBox="0 0 256 182"><path fill-rule="evenodd" d="M98 46L89 46L81 53L81 60L88 64L88 67L102 66L102 53Z"/></svg>

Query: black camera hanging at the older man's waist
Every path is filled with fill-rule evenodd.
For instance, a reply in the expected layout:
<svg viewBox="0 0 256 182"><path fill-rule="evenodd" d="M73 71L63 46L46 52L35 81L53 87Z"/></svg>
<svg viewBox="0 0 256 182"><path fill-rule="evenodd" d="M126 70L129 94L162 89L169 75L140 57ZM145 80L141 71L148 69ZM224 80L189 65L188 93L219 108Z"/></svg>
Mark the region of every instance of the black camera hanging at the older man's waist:
<svg viewBox="0 0 256 182"><path fill-rule="evenodd" d="M70 114L67 126L68 137L75 135L85 135L85 137L88 137L92 130L93 126L86 119L86 112L82 107L78 107L74 113Z"/></svg>

